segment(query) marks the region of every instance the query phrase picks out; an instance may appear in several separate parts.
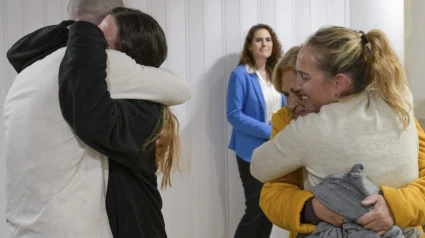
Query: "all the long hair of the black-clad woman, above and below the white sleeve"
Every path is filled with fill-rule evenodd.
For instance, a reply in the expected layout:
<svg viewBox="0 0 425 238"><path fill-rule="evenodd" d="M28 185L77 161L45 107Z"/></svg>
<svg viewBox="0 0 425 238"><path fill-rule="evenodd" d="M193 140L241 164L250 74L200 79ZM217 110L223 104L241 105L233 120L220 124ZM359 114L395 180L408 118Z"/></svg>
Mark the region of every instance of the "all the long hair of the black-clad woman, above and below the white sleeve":
<svg viewBox="0 0 425 238"><path fill-rule="evenodd" d="M114 8L108 15L118 26L115 49L124 52L136 63L158 68L167 58L167 41L159 23L150 15L137 9ZM150 79L155 80L155 79ZM161 188L171 186L171 168L180 159L179 122L170 109L163 105L162 115L150 138L143 145L155 146L155 163L163 174Z"/></svg>

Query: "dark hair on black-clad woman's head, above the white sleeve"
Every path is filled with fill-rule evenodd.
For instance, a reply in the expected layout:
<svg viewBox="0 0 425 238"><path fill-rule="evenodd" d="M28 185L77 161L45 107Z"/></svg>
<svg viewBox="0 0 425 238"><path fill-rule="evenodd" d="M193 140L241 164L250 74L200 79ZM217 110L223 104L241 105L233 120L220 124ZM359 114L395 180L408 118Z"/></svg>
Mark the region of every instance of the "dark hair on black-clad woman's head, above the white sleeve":
<svg viewBox="0 0 425 238"><path fill-rule="evenodd" d="M138 64L159 67L167 58L167 40L159 23L137 9L117 7L108 15L118 26L115 49Z"/></svg>

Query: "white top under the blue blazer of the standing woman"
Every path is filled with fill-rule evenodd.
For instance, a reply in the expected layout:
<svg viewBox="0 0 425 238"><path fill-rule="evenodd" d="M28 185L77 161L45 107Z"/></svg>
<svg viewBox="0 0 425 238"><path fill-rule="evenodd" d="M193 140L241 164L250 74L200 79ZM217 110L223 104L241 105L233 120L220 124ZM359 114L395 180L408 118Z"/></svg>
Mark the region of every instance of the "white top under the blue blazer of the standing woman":
<svg viewBox="0 0 425 238"><path fill-rule="evenodd" d="M282 108L282 95L276 91L272 82L266 81L261 77L260 72L257 70L256 74L260 81L261 90L264 96L264 103L266 106L266 123L271 123L273 113L279 111Z"/></svg>

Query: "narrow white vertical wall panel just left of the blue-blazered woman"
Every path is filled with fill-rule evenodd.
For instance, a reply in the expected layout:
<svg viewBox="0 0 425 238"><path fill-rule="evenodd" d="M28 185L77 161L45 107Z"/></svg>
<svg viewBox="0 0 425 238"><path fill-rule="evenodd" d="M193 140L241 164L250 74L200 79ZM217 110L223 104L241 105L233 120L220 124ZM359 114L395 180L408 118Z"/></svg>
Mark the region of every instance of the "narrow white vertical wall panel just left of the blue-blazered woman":
<svg viewBox="0 0 425 238"><path fill-rule="evenodd" d="M224 76L224 43L223 43L223 12L222 2L217 0L204 0L204 42L205 42L205 74L201 79L201 90L205 89L209 97L202 96L206 107L208 105L207 117L204 125L208 128L210 153L208 160L210 163L210 193L211 193L211 238L226 238L227 218L225 212L226 187L225 187L225 149L223 141L226 141L225 134L225 93L226 85ZM194 90L199 90L194 89ZM193 102L193 101L192 101ZM205 155L205 151L203 152Z"/></svg>

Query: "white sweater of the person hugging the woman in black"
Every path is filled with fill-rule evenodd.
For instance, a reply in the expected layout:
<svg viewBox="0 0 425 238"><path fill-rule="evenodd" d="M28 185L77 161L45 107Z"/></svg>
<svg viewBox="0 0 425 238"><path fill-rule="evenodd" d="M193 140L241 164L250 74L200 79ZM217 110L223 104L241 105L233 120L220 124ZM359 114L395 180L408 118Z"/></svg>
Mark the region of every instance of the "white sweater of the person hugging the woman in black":
<svg viewBox="0 0 425 238"><path fill-rule="evenodd" d="M167 105L190 98L185 81L137 65L108 50L113 98L150 99ZM6 237L112 237L105 210L108 160L75 137L58 99L65 48L26 68L4 105L6 129Z"/></svg>

